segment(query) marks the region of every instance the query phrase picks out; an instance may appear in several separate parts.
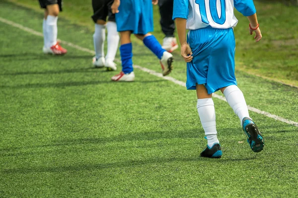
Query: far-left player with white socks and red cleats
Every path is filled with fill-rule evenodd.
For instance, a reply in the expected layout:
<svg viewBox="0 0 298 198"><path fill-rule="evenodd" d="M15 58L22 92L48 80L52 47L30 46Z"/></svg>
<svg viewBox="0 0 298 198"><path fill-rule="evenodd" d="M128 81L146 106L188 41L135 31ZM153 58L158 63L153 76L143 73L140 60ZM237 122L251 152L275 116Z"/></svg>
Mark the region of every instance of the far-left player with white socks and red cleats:
<svg viewBox="0 0 298 198"><path fill-rule="evenodd" d="M56 55L67 53L67 50L57 42L57 20L59 12L62 11L62 0L39 0L39 3L45 9L42 24L44 35L43 52Z"/></svg>

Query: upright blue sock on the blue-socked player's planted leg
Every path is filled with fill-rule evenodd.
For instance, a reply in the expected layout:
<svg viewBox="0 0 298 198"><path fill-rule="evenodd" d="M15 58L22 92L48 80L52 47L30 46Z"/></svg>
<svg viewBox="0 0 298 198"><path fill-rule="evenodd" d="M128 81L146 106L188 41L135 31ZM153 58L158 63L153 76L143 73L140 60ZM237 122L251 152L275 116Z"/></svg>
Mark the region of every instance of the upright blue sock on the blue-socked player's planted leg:
<svg viewBox="0 0 298 198"><path fill-rule="evenodd" d="M129 74L134 71L133 68L133 45L132 43L120 46L120 56L122 61L122 71Z"/></svg>

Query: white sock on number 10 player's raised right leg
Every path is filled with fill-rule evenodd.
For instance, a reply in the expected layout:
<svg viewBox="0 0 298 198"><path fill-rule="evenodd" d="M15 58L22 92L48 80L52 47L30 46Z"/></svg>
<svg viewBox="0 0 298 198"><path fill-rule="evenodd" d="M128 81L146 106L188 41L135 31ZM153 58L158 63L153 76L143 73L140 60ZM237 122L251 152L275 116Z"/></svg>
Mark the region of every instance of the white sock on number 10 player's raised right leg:
<svg viewBox="0 0 298 198"><path fill-rule="evenodd" d="M225 88L224 97L230 107L232 107L234 113L239 117L242 126L243 118L249 117L243 93L236 85L231 85Z"/></svg>

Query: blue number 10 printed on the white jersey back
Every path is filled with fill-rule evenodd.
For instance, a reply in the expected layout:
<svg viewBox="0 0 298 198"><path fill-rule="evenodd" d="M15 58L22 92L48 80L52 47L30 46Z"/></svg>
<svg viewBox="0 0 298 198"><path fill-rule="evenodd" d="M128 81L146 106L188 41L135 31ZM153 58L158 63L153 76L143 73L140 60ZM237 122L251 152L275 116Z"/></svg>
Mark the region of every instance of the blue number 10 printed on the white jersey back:
<svg viewBox="0 0 298 198"><path fill-rule="evenodd" d="M221 17L219 17L218 7L216 6L218 0L208 0L208 1L209 1L209 8L210 8L212 20L217 24L223 25L225 22L225 0L219 0L221 1ZM209 24L210 22L207 17L207 11L209 10L206 10L205 0L196 0L196 3L199 4L202 21L206 24Z"/></svg>

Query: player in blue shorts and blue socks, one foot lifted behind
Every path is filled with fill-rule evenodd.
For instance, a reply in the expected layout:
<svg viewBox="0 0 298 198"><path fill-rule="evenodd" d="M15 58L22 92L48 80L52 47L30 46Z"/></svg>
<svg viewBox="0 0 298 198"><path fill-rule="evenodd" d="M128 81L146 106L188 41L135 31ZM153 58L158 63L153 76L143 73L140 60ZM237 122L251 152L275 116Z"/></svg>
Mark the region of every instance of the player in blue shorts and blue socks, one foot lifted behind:
<svg viewBox="0 0 298 198"><path fill-rule="evenodd" d="M131 34L142 40L160 60L162 75L168 75L172 70L173 56L162 49L158 41L149 32L153 31L152 4L158 0L114 0L111 9L116 13L117 30L120 32L120 55L122 71L112 77L113 81L134 81L133 53Z"/></svg>

